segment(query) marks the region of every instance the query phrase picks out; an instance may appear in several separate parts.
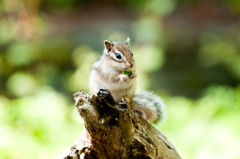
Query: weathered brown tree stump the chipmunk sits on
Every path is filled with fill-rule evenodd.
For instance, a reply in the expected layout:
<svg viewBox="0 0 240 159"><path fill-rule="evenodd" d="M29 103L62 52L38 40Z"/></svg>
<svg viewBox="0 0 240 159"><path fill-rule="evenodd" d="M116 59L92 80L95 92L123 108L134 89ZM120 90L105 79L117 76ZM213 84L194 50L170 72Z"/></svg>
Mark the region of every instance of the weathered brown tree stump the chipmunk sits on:
<svg viewBox="0 0 240 159"><path fill-rule="evenodd" d="M58 159L180 159L160 131L131 105L116 103L109 91L79 91L74 99L85 130Z"/></svg>

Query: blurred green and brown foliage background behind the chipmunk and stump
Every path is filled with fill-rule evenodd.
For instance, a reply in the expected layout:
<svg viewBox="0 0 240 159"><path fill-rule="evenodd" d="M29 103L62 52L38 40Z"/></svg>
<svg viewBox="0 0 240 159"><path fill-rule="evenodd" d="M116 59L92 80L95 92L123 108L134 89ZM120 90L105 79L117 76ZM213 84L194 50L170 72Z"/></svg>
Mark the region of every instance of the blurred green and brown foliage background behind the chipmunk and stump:
<svg viewBox="0 0 240 159"><path fill-rule="evenodd" d="M131 38L138 90L185 159L240 159L239 0L0 0L0 158L56 158L81 134L103 40Z"/></svg>

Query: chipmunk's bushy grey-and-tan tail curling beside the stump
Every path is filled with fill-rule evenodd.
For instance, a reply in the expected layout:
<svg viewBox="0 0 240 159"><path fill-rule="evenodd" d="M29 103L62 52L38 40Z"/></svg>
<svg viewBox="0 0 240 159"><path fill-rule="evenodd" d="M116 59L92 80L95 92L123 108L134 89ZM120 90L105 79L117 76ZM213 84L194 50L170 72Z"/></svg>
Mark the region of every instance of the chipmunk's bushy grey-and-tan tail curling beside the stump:
<svg viewBox="0 0 240 159"><path fill-rule="evenodd" d="M157 123L166 118L164 102L152 92L137 92L133 98L133 109L149 122Z"/></svg>

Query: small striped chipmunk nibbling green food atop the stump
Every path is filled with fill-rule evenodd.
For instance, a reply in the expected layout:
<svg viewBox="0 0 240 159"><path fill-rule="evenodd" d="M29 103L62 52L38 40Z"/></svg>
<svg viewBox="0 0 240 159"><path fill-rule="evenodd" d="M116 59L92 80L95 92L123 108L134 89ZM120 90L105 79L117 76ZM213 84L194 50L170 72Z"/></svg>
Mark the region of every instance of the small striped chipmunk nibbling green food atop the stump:
<svg viewBox="0 0 240 159"><path fill-rule="evenodd" d="M149 122L165 117L165 104L156 95L144 91L136 92L136 67L133 53L126 41L104 41L102 56L93 64L89 76L90 93L96 95L100 89L111 92L118 103L127 102Z"/></svg>

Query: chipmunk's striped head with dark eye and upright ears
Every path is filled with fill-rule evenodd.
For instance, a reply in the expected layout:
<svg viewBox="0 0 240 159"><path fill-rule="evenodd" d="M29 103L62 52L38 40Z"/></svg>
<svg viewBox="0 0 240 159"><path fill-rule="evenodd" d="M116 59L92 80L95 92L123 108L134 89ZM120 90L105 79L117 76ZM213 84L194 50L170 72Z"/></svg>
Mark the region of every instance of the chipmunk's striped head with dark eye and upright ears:
<svg viewBox="0 0 240 159"><path fill-rule="evenodd" d="M109 66L119 71L131 71L135 68L133 54L129 49L130 38L126 41L104 41L104 56Z"/></svg>

